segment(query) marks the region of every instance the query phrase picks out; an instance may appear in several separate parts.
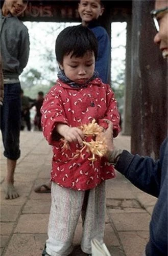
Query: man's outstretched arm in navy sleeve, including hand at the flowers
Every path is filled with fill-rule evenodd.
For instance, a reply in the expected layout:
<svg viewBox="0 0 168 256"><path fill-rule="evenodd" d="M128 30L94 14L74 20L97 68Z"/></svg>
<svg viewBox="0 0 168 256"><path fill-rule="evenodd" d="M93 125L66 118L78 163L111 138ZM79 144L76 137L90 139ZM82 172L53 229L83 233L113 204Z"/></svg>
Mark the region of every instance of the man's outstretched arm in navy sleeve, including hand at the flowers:
<svg viewBox="0 0 168 256"><path fill-rule="evenodd" d="M167 172L167 161L163 161L166 156L166 143L164 141L160 150L160 159L154 161L151 157L140 157L139 155L132 155L126 150L120 150L113 145L112 123L106 120L109 124L108 129L103 133L108 147L107 159L115 165L115 169L123 174L136 187L145 191L146 193L158 197L160 193L161 172L165 169ZM164 162L164 164L162 163ZM163 177L163 176L162 176Z"/></svg>

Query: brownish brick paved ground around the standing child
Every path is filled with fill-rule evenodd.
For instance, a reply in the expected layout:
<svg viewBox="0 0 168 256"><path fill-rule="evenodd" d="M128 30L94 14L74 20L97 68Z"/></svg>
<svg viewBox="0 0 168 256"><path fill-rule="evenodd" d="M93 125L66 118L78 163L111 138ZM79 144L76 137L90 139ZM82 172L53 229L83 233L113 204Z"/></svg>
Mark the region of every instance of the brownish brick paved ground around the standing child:
<svg viewBox="0 0 168 256"><path fill-rule="evenodd" d="M130 137L118 136L115 144L130 150ZM34 186L49 181L52 152L41 132L22 131L21 157L15 185L20 197L5 200L3 180L6 159L1 158L1 256L40 256L47 238L50 194L36 194ZM104 242L113 256L140 256L149 236L156 199L135 188L117 173L107 181L107 215ZM75 233L74 256L80 251L81 219Z"/></svg>

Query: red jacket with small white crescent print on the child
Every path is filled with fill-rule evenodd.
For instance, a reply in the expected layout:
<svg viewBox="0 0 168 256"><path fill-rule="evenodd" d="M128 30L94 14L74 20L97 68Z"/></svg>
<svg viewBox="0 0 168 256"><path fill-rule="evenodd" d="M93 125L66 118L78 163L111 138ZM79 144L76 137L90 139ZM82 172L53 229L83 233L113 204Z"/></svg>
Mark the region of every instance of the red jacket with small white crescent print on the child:
<svg viewBox="0 0 168 256"><path fill-rule="evenodd" d="M63 151L61 136L55 129L58 123L79 127L90 123L92 119L106 129L107 123L103 121L106 118L113 122L113 134L116 137L120 131L119 113L114 93L108 84L96 78L86 88L74 89L58 79L45 96L41 113L44 137L53 146L51 181L62 187L87 190L115 177L113 165L105 158L98 158L92 164L88 160L90 153L84 152L83 158L73 159L79 144L71 142L70 148Z"/></svg>

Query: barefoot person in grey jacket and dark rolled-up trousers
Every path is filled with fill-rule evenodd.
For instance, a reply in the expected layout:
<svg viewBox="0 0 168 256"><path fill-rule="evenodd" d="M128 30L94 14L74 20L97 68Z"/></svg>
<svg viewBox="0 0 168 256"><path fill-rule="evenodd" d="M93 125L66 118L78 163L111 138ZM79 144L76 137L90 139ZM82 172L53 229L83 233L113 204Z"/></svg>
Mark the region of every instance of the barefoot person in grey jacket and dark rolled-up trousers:
<svg viewBox="0 0 168 256"><path fill-rule="evenodd" d="M29 58L28 29L17 18L27 7L28 1L5 0L0 12L1 55L4 75L4 103L1 107L1 132L4 156L7 158L7 175L4 181L5 198L19 195L14 187L14 172L20 157L20 82L19 75Z"/></svg>

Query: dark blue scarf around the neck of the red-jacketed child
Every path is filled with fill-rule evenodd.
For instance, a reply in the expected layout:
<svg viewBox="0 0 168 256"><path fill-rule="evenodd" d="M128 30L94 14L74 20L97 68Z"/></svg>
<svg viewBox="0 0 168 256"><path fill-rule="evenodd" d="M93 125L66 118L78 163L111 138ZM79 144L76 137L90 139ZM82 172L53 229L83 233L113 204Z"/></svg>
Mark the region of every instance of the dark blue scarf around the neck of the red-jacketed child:
<svg viewBox="0 0 168 256"><path fill-rule="evenodd" d="M63 70L60 70L58 72L58 78L68 84L68 86L70 86L71 88L83 88L83 87L87 87L87 83L90 82L91 80L94 80L95 78L98 77L98 72L97 71L94 71L93 73L93 76L85 83L85 84L79 84L79 83L76 83L72 80L70 80L68 77L65 76L65 73Z"/></svg>

